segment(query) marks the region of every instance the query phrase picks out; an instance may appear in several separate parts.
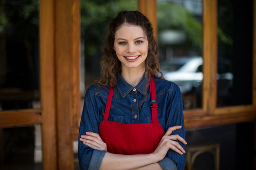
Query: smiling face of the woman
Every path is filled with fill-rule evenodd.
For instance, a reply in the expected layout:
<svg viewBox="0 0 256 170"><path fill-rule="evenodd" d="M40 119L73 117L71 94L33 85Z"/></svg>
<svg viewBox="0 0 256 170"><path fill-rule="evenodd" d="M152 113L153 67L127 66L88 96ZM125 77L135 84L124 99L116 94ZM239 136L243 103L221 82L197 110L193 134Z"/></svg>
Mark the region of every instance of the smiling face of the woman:
<svg viewBox="0 0 256 170"><path fill-rule="evenodd" d="M115 34L114 50L125 69L142 69L147 57L148 41L140 26L123 24Z"/></svg>

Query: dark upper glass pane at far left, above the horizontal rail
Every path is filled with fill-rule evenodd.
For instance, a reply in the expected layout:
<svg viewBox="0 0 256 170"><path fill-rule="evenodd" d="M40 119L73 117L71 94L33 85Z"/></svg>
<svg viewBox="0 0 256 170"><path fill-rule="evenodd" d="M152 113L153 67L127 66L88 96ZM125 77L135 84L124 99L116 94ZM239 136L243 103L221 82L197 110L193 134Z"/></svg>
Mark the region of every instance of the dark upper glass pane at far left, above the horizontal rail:
<svg viewBox="0 0 256 170"><path fill-rule="evenodd" d="M40 108L38 1L0 0L0 110Z"/></svg>

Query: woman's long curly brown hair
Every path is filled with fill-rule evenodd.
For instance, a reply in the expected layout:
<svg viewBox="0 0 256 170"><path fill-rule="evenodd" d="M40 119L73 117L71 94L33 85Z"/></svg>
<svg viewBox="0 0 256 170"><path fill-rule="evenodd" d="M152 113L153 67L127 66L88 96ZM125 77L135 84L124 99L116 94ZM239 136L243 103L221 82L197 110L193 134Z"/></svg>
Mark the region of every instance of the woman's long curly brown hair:
<svg viewBox="0 0 256 170"><path fill-rule="evenodd" d="M121 11L110 23L109 35L107 36L101 59L101 79L98 83L114 87L117 82L117 75L121 74L121 62L114 50L114 41L116 31L123 24L140 26L146 34L148 54L145 60L145 75L147 75L148 82L151 77L162 77L163 74L159 70L158 46L153 35L152 24L139 11Z"/></svg>

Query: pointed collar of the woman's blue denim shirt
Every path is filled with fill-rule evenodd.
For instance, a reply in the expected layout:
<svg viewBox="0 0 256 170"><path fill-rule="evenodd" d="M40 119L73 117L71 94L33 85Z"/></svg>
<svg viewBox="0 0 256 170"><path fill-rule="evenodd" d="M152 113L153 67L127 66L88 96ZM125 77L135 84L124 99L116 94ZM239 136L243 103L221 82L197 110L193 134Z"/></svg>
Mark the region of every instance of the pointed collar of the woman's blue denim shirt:
<svg viewBox="0 0 256 170"><path fill-rule="evenodd" d="M145 96L146 93L143 92L143 87L146 83L147 83L146 77L143 76L142 80L135 87L133 87L132 85L128 84L120 75L118 75L116 87L123 98L125 98L127 94L130 93L134 88L136 88L139 93ZM148 85L146 86L146 92L147 90L148 90Z"/></svg>

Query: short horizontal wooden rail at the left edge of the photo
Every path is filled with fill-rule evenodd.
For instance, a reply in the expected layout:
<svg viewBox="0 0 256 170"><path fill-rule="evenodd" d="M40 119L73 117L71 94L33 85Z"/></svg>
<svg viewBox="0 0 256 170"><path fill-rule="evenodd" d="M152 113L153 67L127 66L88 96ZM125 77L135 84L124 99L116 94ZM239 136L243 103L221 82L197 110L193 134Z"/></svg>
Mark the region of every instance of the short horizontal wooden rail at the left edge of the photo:
<svg viewBox="0 0 256 170"><path fill-rule="evenodd" d="M0 111L0 127L27 126L41 123L41 110Z"/></svg>

